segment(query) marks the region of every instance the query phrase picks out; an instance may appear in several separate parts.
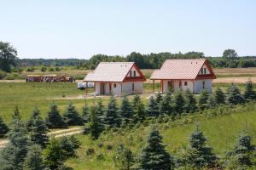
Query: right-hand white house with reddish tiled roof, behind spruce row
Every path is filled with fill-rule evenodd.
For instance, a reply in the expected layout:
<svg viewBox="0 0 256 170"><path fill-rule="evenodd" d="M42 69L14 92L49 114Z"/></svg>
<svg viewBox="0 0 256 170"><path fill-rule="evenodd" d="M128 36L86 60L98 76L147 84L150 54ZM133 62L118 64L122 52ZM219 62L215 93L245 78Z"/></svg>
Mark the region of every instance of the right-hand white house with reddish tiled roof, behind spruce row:
<svg viewBox="0 0 256 170"><path fill-rule="evenodd" d="M165 93L168 89L190 90L193 94L200 94L206 89L212 93L212 80L214 72L207 59L166 59L160 70L155 70L150 80L160 80L160 91Z"/></svg>

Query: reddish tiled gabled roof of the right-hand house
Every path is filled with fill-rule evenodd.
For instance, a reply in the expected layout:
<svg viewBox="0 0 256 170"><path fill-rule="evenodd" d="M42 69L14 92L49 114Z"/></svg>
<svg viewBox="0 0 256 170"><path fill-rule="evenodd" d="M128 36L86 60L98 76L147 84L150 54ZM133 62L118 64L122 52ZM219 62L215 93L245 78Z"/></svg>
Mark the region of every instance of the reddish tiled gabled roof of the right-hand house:
<svg viewBox="0 0 256 170"><path fill-rule="evenodd" d="M155 70L150 79L195 80L204 64L212 78L215 78L207 59L166 59L160 70Z"/></svg>

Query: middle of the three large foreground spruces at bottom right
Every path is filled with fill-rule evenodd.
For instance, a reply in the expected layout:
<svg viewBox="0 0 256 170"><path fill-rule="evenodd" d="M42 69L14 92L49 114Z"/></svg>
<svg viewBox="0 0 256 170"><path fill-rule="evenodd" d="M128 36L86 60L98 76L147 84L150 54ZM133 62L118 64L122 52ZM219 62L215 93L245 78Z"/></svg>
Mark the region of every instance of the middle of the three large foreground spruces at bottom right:
<svg viewBox="0 0 256 170"><path fill-rule="evenodd" d="M207 139L201 130L197 129L191 134L189 138L189 150L186 157L187 163L191 167L215 167L217 157L212 153L212 148L207 146Z"/></svg>

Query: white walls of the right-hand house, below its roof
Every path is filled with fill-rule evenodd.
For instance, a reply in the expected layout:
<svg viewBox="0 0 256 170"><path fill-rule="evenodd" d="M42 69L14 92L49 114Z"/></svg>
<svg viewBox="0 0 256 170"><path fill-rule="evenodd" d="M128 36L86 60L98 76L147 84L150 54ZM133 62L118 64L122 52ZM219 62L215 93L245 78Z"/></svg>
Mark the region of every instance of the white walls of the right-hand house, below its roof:
<svg viewBox="0 0 256 170"><path fill-rule="evenodd" d="M193 94L200 94L202 90L207 90L208 93L212 93L212 79L203 80L163 80L163 93L166 93L169 88L172 88L174 92L178 90L189 91Z"/></svg>

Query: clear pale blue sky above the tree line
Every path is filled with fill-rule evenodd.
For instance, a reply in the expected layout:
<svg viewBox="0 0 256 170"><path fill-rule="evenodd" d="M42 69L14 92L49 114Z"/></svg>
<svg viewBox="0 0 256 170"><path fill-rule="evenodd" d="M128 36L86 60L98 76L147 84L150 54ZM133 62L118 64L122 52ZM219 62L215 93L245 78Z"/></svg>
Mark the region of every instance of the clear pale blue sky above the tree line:
<svg viewBox="0 0 256 170"><path fill-rule="evenodd" d="M203 52L256 55L254 0L0 0L19 58Z"/></svg>

